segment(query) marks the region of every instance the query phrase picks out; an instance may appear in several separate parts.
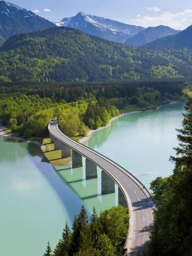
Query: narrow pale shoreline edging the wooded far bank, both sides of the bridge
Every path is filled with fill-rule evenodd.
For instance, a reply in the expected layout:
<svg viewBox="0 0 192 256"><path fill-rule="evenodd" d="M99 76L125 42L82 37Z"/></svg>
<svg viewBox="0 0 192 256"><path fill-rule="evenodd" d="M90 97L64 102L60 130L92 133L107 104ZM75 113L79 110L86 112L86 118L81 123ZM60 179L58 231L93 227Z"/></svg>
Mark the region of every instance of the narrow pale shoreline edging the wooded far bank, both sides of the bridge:
<svg viewBox="0 0 192 256"><path fill-rule="evenodd" d="M154 110L157 110L157 109L161 108L162 106L170 105L170 104L176 104L176 103L179 103L179 102L186 102L186 101L172 101L172 102L169 102L167 104L159 105L159 106L157 106L156 109L140 110L140 111L134 111L133 110L133 111L129 111L129 112L125 112L125 113L121 113L119 115L113 116L113 118L110 119L110 121L109 121L109 123L107 125L101 126L98 129L96 129L96 130L89 130L87 135L85 137L80 138L80 140L78 142L79 143L86 142L87 140L89 140L89 138L91 137L91 135L94 132L100 131L102 129L105 129L105 128L109 127L114 120L116 120L118 118L121 118L122 116L136 114L136 113L141 113L141 112L147 112L147 111L154 111ZM5 131L6 128L7 128L6 126L2 126L2 125L0 126L0 137L10 138L10 140L15 140L15 141L18 140L18 141L27 142L27 143L33 143L33 144L37 145L41 149L41 151L43 152L45 146L41 145L40 142L25 140L25 138L15 136L15 133L7 134L6 131Z"/></svg>

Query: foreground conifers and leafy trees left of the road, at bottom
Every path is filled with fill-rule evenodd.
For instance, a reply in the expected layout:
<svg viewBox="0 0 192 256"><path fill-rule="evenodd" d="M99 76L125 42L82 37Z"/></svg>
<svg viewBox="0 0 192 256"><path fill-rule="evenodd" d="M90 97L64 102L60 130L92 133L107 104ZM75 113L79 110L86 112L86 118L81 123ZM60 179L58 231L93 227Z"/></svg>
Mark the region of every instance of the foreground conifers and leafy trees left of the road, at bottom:
<svg viewBox="0 0 192 256"><path fill-rule="evenodd" d="M74 218L72 230L66 223L54 252L48 242L44 256L120 256L129 229L129 210L122 206L100 212L93 208L88 221L81 207Z"/></svg>

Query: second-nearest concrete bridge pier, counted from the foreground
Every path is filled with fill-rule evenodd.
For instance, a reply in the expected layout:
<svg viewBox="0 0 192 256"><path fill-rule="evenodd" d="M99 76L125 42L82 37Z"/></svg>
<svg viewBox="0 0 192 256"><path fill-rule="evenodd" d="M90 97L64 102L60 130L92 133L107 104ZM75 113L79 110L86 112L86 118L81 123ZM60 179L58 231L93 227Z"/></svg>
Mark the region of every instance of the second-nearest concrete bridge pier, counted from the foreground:
<svg viewBox="0 0 192 256"><path fill-rule="evenodd" d="M108 194L115 192L115 183L114 180L104 172L101 171L101 194Z"/></svg>

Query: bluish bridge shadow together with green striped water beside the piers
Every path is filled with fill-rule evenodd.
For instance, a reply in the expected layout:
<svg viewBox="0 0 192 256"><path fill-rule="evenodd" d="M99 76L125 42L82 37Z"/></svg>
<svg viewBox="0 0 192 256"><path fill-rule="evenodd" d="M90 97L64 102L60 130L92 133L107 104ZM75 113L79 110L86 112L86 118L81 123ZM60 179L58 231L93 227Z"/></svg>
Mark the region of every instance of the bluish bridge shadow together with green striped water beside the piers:
<svg viewBox="0 0 192 256"><path fill-rule="evenodd" d="M108 193L102 195L103 171L88 159L72 151L72 164L54 164L54 169L49 162L47 163L46 157L42 156L40 148L36 145L28 143L27 149L30 155L33 156L33 162L54 188L65 206L70 221L72 221L74 215L78 214L82 204L86 206L88 215L92 213L93 207L100 212L118 205L118 186L115 185L115 190L107 191ZM42 158L41 162L39 157ZM109 177L109 179L111 178ZM112 186L110 180L107 180L107 184ZM65 189L63 189L63 186L65 186Z"/></svg>

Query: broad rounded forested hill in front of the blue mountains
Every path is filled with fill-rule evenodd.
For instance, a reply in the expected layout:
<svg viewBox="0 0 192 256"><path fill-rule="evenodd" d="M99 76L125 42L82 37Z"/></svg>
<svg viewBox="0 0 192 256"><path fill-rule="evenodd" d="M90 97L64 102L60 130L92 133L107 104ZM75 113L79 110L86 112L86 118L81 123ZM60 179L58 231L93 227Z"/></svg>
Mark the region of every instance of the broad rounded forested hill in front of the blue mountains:
<svg viewBox="0 0 192 256"><path fill-rule="evenodd" d="M56 27L0 48L0 81L98 81L192 75L192 51L152 51Z"/></svg>

